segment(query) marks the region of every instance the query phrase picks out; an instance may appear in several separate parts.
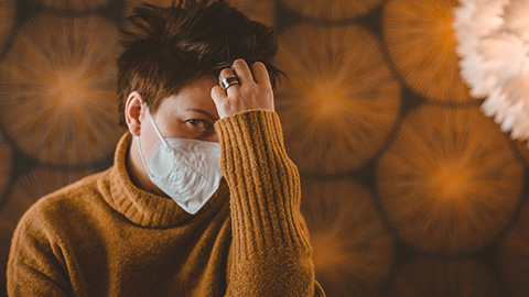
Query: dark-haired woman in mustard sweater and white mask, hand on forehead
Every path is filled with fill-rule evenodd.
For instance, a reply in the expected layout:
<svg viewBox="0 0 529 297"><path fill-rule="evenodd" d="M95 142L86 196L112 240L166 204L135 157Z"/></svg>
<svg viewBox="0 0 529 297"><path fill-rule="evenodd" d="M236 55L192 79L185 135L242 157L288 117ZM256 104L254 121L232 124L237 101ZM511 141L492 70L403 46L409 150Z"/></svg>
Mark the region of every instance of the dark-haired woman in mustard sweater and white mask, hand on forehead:
<svg viewBox="0 0 529 297"><path fill-rule="evenodd" d="M9 295L323 296L273 111L271 30L222 0L129 20L115 164L23 216Z"/></svg>

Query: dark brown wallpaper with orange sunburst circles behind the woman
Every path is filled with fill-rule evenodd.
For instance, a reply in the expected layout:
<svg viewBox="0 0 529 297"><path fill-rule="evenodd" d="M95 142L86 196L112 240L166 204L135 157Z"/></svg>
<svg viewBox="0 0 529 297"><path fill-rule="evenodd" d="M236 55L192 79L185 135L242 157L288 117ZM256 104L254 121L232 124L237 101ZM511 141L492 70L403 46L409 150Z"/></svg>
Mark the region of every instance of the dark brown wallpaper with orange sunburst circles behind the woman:
<svg viewBox="0 0 529 297"><path fill-rule="evenodd" d="M457 0L229 1L278 32L277 110L328 296L529 295L529 150L458 75ZM0 295L22 213L112 163L138 2L0 0Z"/></svg>

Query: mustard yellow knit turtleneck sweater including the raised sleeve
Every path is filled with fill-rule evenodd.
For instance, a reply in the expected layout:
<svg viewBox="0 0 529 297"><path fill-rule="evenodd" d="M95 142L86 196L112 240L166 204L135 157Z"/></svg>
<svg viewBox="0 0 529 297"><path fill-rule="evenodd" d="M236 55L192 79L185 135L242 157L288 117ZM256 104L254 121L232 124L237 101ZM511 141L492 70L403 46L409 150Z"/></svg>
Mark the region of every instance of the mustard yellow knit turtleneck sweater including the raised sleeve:
<svg viewBox="0 0 529 297"><path fill-rule="evenodd" d="M195 216L109 169L40 199L14 232L9 296L324 296L277 113L215 124L225 180Z"/></svg>

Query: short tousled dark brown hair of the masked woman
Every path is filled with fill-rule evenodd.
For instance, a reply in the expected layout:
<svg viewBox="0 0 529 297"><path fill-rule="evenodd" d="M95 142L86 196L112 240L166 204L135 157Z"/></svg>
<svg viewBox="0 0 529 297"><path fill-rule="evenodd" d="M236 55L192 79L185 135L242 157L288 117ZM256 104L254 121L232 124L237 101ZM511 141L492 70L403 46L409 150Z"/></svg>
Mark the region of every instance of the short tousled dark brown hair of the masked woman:
<svg viewBox="0 0 529 297"><path fill-rule="evenodd" d="M217 77L237 58L262 62L272 86L281 72L272 65L273 30L249 20L224 0L180 0L169 8L143 3L121 31L118 58L121 123L130 92L138 91L155 112L161 101L204 76Z"/></svg>

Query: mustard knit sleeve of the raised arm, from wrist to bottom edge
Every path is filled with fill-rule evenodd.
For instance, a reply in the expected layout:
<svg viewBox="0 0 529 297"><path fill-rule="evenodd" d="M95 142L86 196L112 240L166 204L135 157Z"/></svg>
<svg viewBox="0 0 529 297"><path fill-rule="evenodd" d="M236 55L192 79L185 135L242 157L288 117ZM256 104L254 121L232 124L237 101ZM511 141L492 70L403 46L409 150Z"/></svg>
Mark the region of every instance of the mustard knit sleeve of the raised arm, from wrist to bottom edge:
<svg viewBox="0 0 529 297"><path fill-rule="evenodd" d="M300 177L276 112L250 110L215 125L230 189L228 296L323 296L300 213Z"/></svg>

